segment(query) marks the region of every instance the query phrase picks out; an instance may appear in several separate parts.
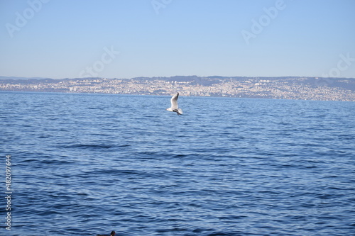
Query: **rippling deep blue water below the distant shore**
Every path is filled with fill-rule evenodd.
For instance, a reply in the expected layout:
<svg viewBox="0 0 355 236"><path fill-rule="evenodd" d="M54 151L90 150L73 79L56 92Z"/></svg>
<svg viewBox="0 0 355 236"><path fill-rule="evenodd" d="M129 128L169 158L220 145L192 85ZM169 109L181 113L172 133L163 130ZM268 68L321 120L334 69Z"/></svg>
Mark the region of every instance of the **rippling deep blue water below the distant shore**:
<svg viewBox="0 0 355 236"><path fill-rule="evenodd" d="M355 235L354 102L179 105L0 91L0 235Z"/></svg>

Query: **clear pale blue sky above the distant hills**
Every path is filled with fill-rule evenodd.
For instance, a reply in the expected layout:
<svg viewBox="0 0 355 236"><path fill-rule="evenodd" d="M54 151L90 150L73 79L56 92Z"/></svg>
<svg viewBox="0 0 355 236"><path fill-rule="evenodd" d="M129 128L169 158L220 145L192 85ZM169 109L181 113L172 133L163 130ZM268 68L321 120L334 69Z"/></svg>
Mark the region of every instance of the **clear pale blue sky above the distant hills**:
<svg viewBox="0 0 355 236"><path fill-rule="evenodd" d="M2 76L329 73L355 77L354 0L0 0Z"/></svg>

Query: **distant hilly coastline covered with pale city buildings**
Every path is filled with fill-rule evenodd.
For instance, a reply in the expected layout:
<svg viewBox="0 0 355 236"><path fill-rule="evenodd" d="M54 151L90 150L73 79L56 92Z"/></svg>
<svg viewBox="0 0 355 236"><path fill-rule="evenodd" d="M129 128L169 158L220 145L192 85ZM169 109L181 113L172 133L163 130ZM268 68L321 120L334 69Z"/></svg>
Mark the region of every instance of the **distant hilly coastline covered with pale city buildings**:
<svg viewBox="0 0 355 236"><path fill-rule="evenodd" d="M182 96L355 101L355 79L220 76L133 79L0 77L0 91L141 95L170 95L179 91Z"/></svg>

